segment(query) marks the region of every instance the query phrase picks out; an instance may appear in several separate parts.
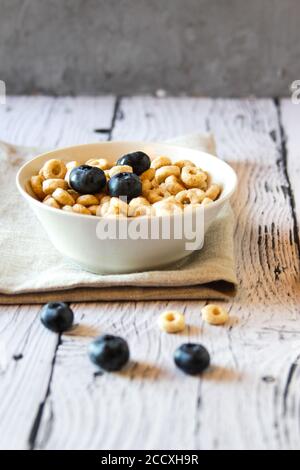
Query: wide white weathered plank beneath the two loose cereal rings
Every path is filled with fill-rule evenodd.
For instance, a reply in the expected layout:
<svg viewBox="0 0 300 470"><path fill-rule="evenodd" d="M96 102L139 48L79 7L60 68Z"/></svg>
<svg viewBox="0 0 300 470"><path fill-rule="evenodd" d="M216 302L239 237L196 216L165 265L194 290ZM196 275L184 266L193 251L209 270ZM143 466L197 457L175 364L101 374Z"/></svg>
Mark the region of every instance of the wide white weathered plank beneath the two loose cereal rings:
<svg viewBox="0 0 300 470"><path fill-rule="evenodd" d="M299 247L278 109L271 100L126 98L112 137L162 140L195 130L216 134L220 156L239 175L240 288L225 304L231 321L202 324L203 302L75 306L83 325L58 348L36 448L299 448ZM186 313L181 335L157 329L158 314L171 307ZM93 375L86 349L103 332L130 342L132 363L121 374ZM202 379L173 365L187 340L212 353Z"/></svg>

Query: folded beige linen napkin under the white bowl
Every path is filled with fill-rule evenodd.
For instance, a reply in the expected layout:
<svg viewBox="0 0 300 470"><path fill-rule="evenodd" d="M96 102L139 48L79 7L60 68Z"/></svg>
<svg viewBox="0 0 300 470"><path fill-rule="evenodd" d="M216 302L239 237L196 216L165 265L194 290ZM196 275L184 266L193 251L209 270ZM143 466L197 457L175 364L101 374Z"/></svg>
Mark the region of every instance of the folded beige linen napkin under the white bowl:
<svg viewBox="0 0 300 470"><path fill-rule="evenodd" d="M171 142L171 141L170 141ZM212 136L173 140L215 153ZM236 288L234 217L227 206L211 226L201 251L161 271L97 275L65 259L17 192L20 165L39 153L0 142L0 303L227 299Z"/></svg>

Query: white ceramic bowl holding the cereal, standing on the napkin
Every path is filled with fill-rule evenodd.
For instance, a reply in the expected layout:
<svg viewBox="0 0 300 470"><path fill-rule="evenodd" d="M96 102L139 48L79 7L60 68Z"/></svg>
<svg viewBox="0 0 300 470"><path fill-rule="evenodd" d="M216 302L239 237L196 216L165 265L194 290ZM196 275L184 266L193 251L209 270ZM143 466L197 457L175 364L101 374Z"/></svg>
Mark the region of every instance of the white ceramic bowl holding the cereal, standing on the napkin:
<svg viewBox="0 0 300 470"><path fill-rule="evenodd" d="M32 194L30 177L37 174L49 159L58 158L65 162L77 160L79 163L84 163L90 158L107 158L113 163L120 156L136 150L146 152L152 159L167 155L173 161L191 160L208 171L214 183L222 186L220 198L203 209L204 220L202 226L198 227L203 234L236 189L237 177L228 164L205 152L172 145L145 142L101 142L62 148L34 158L19 170L17 187L57 250L87 271L125 273L153 270L191 254L191 251L186 249L186 243L190 240L185 236L176 239L173 230L169 239L162 237L159 239L120 239L120 237L99 239L98 224L102 219L53 209L36 200ZM171 216L171 219L172 217L179 216ZM128 229L136 221L137 218L126 219ZM120 222L115 219L105 219L108 230L112 228L112 224L118 225Z"/></svg>

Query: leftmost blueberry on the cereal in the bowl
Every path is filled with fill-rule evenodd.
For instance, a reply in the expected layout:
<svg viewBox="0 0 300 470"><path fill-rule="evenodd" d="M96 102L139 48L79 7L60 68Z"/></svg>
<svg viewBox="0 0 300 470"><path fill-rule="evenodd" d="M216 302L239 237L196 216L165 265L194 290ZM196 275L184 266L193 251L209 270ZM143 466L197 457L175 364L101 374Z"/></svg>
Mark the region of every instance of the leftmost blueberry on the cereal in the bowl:
<svg viewBox="0 0 300 470"><path fill-rule="evenodd" d="M73 168L69 181L71 188L81 194L100 193L106 185L104 171L89 165Z"/></svg>

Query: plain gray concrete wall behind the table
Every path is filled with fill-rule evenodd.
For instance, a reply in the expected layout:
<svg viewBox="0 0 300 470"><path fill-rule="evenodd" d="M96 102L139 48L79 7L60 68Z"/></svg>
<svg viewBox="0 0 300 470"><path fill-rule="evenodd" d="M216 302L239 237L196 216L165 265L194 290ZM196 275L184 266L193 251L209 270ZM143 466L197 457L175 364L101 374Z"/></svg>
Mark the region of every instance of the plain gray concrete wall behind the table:
<svg viewBox="0 0 300 470"><path fill-rule="evenodd" d="M289 94L299 0L0 0L9 93Z"/></svg>

